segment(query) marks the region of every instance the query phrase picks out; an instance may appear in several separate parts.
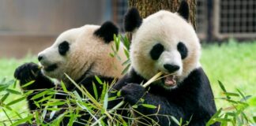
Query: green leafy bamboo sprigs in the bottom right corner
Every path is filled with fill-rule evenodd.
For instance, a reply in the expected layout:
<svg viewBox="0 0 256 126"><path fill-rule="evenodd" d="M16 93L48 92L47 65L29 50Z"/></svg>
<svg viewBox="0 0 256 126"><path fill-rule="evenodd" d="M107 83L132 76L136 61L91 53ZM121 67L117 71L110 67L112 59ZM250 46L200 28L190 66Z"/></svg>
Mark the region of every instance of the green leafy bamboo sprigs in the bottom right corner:
<svg viewBox="0 0 256 126"><path fill-rule="evenodd" d="M207 126L215 122L220 122L222 126L227 125L250 125L256 123L255 117L249 117L245 110L249 107L247 100L251 95L244 95L239 89L234 92L228 92L223 83L219 81L220 88L224 97L219 98L228 103L228 107L220 109L209 120Z"/></svg>

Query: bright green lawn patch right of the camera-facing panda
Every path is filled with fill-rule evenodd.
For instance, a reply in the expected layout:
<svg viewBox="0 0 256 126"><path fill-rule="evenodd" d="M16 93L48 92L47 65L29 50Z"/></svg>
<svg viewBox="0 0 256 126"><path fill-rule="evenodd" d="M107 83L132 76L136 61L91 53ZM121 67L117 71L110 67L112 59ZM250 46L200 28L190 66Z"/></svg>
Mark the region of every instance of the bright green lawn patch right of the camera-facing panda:
<svg viewBox="0 0 256 126"><path fill-rule="evenodd" d="M216 98L223 97L218 80L224 83L227 91L244 92L252 95L248 99L247 113L256 116L256 42L238 43L229 39L223 44L203 44L201 65L213 88ZM216 99L217 108L228 107L227 102Z"/></svg>

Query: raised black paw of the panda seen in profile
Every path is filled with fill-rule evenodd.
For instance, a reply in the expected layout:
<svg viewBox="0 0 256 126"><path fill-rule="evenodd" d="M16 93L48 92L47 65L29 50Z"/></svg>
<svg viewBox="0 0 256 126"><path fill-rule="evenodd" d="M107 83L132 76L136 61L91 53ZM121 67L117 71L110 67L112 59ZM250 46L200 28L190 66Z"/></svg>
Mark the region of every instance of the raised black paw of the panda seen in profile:
<svg viewBox="0 0 256 126"><path fill-rule="evenodd" d="M21 86L41 75L40 66L32 62L19 66L14 72L14 77L20 80Z"/></svg>

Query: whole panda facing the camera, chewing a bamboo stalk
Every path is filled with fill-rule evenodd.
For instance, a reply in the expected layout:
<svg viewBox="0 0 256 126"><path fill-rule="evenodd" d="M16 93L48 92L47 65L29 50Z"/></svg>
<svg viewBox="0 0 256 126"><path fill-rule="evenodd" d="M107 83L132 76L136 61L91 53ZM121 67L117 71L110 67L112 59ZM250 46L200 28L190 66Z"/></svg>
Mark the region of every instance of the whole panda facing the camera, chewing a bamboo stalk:
<svg viewBox="0 0 256 126"><path fill-rule="evenodd" d="M136 8L128 10L124 27L132 32L131 69L112 87L109 97L121 99L109 102L108 109L123 99L133 106L134 123L161 126L177 125L171 116L202 126L216 113L213 91L199 62L198 36L188 20L185 1L177 13L160 10L143 20ZM160 80L141 86L158 72L164 73Z"/></svg>

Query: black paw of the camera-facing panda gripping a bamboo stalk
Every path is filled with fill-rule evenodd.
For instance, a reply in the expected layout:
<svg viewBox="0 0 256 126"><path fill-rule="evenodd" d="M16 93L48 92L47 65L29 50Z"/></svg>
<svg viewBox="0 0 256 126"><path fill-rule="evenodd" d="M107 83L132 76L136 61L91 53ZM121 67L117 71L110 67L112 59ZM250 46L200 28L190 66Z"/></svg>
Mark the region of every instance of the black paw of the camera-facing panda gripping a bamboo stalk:
<svg viewBox="0 0 256 126"><path fill-rule="evenodd" d="M134 106L146 93L145 87L137 83L128 83L122 87L121 95L126 102L129 102L131 106Z"/></svg>

